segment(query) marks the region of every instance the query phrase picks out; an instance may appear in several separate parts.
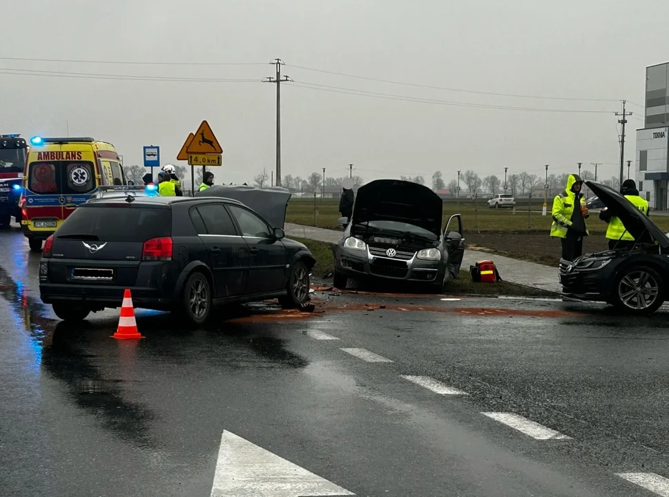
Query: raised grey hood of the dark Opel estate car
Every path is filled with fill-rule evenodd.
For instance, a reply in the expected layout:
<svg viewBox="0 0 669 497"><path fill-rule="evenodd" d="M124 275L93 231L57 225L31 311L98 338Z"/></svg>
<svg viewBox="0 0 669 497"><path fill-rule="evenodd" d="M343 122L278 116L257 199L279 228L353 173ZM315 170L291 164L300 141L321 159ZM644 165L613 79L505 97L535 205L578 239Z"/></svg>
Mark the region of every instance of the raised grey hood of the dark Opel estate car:
<svg viewBox="0 0 669 497"><path fill-rule="evenodd" d="M215 185L195 193L195 197L220 197L239 200L260 214L274 228L284 228L286 208L291 199L287 188L253 188L245 185Z"/></svg>

